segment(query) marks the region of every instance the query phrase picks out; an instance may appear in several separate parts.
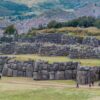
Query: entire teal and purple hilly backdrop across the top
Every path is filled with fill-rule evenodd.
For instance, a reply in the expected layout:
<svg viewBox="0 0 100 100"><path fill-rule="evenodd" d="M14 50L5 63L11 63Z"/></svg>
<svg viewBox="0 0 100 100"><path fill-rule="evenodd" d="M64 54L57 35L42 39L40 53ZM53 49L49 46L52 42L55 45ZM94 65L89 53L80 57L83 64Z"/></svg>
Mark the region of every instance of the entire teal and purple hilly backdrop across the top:
<svg viewBox="0 0 100 100"><path fill-rule="evenodd" d="M24 19L71 20L100 17L100 0L0 0L0 16Z"/></svg>

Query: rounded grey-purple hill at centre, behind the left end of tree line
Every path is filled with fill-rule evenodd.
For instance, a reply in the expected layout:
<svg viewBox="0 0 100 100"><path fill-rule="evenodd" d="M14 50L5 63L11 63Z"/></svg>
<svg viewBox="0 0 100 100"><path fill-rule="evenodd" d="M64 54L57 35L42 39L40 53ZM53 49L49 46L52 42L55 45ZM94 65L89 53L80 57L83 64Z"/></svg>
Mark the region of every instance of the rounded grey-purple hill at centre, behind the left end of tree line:
<svg viewBox="0 0 100 100"><path fill-rule="evenodd" d="M45 11L39 17L42 17L48 20L65 21L65 20L75 19L76 15L74 14L73 11L66 11L60 8L56 8L56 9Z"/></svg>

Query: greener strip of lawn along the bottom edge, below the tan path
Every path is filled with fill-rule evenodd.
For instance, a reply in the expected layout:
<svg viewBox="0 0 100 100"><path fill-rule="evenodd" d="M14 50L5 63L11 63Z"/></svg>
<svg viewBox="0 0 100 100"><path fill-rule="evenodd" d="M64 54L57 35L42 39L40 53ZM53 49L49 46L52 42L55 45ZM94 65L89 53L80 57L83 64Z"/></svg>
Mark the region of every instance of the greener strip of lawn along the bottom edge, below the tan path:
<svg viewBox="0 0 100 100"><path fill-rule="evenodd" d="M93 94L85 90L76 89L47 88L0 92L0 100L88 100L92 96Z"/></svg>

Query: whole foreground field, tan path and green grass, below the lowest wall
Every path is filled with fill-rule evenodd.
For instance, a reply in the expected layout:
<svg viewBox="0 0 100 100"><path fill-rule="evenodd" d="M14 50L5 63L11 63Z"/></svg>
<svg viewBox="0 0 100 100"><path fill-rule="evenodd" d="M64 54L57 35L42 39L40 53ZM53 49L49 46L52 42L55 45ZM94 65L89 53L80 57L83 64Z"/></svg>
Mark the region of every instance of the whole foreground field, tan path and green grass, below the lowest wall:
<svg viewBox="0 0 100 100"><path fill-rule="evenodd" d="M100 100L100 88L75 88L73 81L0 80L0 100Z"/></svg>

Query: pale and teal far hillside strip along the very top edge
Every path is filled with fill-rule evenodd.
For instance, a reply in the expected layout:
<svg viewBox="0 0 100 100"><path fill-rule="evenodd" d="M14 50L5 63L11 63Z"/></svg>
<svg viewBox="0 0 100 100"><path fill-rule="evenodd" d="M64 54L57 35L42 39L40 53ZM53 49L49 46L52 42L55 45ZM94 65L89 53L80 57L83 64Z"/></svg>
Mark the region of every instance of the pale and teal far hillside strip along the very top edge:
<svg viewBox="0 0 100 100"><path fill-rule="evenodd" d="M12 2L16 2L19 4L26 4L30 7L37 5L38 7L42 8L55 8L58 6L62 6L64 8L80 8L85 4L89 3L96 3L99 0L8 0Z"/></svg>

